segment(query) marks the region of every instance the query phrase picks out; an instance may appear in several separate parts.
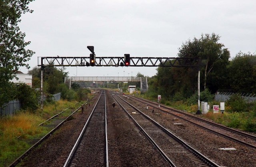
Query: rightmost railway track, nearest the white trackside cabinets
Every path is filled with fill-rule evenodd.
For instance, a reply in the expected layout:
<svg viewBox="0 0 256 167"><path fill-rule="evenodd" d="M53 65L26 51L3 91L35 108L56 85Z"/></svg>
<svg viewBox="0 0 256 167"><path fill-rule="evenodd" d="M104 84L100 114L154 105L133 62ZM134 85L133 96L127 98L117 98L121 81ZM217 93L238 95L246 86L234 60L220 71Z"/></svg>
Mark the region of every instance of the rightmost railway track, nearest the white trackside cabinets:
<svg viewBox="0 0 256 167"><path fill-rule="evenodd" d="M229 127L225 127L223 125L219 125L217 123L207 121L205 119L196 117L192 114L185 113L185 112L173 109L171 107L166 107L164 105L160 105L159 103L154 103L152 101L148 101L145 99L133 97L131 95L128 95L128 97L130 97L130 99L140 101L141 103L144 103L145 105L148 105L154 109L158 109L160 106L159 110L161 112L171 114L171 115L178 117L184 121L188 121L189 123L192 123L193 125L196 125L197 127L200 127L202 129L205 129L205 130L210 131L216 135L220 135L222 137L225 137L227 139L230 139L230 140L240 143L242 145L246 145L251 148L256 148L256 136L254 136L254 135L250 135L248 133L244 133L244 132L238 131L236 129L232 129Z"/></svg>

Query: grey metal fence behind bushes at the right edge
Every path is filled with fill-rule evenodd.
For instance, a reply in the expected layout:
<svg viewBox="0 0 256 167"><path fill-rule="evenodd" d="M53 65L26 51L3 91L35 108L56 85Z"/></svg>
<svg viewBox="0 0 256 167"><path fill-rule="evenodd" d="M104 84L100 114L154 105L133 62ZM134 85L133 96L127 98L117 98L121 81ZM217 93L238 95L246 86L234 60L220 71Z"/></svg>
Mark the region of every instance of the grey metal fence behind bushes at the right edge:
<svg viewBox="0 0 256 167"><path fill-rule="evenodd" d="M216 101L226 101L229 99L230 95L235 94L235 93L230 93L230 92L218 92L215 94L215 100ZM250 94L250 93L236 93L237 95L242 96L244 99L247 99L248 101L255 101L256 100L256 94Z"/></svg>

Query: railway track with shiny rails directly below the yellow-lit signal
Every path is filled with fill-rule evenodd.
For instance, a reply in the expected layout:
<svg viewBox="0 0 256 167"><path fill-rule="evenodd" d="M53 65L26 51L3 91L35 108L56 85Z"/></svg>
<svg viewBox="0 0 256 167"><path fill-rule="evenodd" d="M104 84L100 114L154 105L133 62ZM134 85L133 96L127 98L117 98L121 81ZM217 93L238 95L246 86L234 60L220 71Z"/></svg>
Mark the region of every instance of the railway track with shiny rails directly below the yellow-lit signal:
<svg viewBox="0 0 256 167"><path fill-rule="evenodd" d="M106 128L106 96L105 91L102 91L64 167L108 167L108 139ZM95 140L92 141L90 139Z"/></svg>

